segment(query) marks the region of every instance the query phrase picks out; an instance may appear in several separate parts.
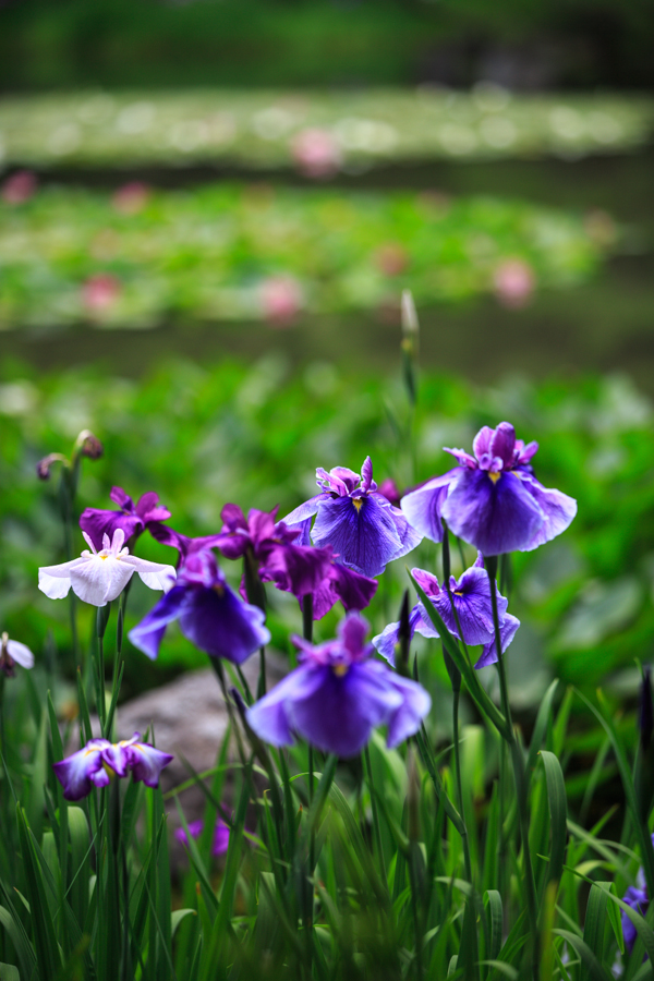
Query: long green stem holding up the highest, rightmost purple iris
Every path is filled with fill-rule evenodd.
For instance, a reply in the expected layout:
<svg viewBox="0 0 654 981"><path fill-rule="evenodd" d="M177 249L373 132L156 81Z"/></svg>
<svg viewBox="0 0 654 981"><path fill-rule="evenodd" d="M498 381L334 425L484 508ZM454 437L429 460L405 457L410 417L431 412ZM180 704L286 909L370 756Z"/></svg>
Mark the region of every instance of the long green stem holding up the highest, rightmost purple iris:
<svg viewBox="0 0 654 981"><path fill-rule="evenodd" d="M530 930L532 933L532 968L534 981L538 981L540 976L540 957L538 957L538 906L536 899L536 886L534 882L534 872L531 862L531 853L529 850L529 802L526 799L526 780L524 774L524 760L520 747L513 732L513 723L511 719L511 706L509 703L509 688L507 682L506 667L504 663L504 653L501 650L501 635L499 630L499 614L497 609L497 556L485 556L484 564L491 580L491 603L493 606L493 625L495 627L495 646L497 650L497 671L499 675L499 690L501 697L501 707L507 720L507 743L511 754L511 763L513 766L513 778L516 782L516 796L518 798L518 813L520 824L520 837L522 839L522 855L524 858L524 882L526 887L526 909L530 920Z"/></svg>

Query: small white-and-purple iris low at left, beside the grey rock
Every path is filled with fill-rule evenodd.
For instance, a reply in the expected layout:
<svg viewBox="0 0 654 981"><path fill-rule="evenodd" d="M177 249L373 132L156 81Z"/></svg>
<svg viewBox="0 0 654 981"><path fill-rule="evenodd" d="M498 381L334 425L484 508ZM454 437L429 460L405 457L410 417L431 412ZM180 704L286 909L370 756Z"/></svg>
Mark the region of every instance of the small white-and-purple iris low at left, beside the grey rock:
<svg viewBox="0 0 654 981"><path fill-rule="evenodd" d="M53 763L52 768L65 799L82 800L94 787L106 787L112 776L123 777L129 771L134 780L158 787L159 774L172 759L149 742L141 742L141 734L134 732L121 742L92 739L76 753Z"/></svg>

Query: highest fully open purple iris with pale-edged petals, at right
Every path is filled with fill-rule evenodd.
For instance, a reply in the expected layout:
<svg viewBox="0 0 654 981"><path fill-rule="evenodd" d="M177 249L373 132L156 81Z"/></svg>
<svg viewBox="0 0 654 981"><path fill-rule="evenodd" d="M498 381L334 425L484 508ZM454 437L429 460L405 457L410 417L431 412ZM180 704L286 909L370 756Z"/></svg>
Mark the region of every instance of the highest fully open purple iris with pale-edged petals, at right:
<svg viewBox="0 0 654 981"><path fill-rule="evenodd" d="M474 457L446 447L459 467L404 495L402 512L433 542L443 541L445 519L483 555L531 552L565 531L577 513L576 500L533 475L537 449L537 443L516 439L510 423L484 426L474 437Z"/></svg>

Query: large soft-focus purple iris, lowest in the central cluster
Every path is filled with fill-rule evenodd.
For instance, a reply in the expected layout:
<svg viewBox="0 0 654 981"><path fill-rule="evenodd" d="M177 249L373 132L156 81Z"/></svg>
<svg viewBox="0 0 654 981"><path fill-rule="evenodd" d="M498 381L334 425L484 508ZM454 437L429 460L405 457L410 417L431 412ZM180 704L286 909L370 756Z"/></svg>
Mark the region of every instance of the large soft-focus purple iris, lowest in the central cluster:
<svg viewBox="0 0 654 981"><path fill-rule="evenodd" d="M288 746L296 734L324 752L354 756L375 726L388 726L389 747L417 731L429 711L429 695L372 659L367 632L363 617L350 614L336 640L314 647L293 637L300 666L246 712L259 739Z"/></svg>

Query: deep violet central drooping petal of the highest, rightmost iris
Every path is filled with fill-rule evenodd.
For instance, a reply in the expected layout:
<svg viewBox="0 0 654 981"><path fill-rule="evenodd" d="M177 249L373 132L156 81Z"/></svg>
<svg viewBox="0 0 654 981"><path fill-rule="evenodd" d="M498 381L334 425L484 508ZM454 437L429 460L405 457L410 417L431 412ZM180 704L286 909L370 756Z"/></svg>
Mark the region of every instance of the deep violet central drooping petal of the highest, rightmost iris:
<svg viewBox="0 0 654 981"><path fill-rule="evenodd" d="M485 470L461 469L441 514L456 535L483 555L523 550L545 521L534 497L510 471L493 480Z"/></svg>

